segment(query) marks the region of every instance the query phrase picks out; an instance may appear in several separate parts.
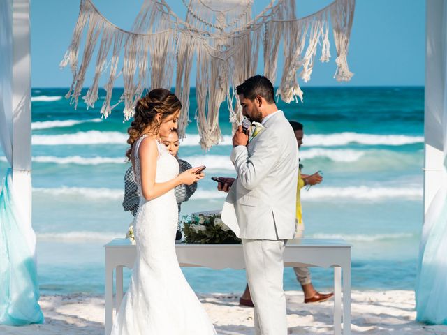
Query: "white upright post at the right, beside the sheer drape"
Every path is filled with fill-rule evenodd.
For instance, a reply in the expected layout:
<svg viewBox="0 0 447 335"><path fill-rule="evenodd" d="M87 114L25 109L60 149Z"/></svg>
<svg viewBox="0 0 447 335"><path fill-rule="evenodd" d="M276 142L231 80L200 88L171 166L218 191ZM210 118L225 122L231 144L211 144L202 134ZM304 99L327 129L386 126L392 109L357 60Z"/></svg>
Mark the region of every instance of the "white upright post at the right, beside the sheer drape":
<svg viewBox="0 0 447 335"><path fill-rule="evenodd" d="M425 48L425 178L424 213L439 190L443 169L442 115L444 107L444 41L442 41L445 0L427 1Z"/></svg>

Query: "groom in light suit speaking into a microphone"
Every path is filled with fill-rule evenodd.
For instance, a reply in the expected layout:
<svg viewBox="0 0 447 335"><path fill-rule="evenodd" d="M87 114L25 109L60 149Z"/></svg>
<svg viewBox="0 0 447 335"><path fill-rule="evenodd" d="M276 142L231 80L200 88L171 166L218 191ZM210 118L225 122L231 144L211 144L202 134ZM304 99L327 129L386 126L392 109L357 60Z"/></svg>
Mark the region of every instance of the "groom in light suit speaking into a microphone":
<svg viewBox="0 0 447 335"><path fill-rule="evenodd" d="M270 80L256 75L236 90L256 131L249 140L239 126L233 137L237 179L219 183L228 192L222 220L242 239L256 334L286 335L283 252L295 232L298 145Z"/></svg>

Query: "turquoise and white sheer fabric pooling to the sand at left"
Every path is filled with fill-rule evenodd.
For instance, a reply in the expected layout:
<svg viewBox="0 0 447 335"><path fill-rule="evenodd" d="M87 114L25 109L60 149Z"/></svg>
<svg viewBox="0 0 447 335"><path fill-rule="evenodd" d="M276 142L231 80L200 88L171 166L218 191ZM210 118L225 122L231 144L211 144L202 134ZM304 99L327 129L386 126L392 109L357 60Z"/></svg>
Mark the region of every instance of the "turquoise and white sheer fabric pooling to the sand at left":
<svg viewBox="0 0 447 335"><path fill-rule="evenodd" d="M36 262L20 230L8 169L0 193L0 324L43 323Z"/></svg>

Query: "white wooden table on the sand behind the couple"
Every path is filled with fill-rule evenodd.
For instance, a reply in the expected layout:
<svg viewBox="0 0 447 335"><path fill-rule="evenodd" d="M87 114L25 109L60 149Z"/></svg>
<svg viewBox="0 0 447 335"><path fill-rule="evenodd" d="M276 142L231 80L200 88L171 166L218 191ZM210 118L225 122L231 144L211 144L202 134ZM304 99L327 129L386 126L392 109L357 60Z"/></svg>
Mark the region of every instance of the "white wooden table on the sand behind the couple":
<svg viewBox="0 0 447 335"><path fill-rule="evenodd" d="M136 248L127 239L114 239L105 244L105 335L113 322L113 270L115 306L123 299L123 267L131 269ZM182 267L211 269L244 269L241 244L176 244ZM285 267L334 268L334 334L342 334L342 270L343 270L343 334L351 334L351 244L341 239L298 239L288 241L284 250Z"/></svg>

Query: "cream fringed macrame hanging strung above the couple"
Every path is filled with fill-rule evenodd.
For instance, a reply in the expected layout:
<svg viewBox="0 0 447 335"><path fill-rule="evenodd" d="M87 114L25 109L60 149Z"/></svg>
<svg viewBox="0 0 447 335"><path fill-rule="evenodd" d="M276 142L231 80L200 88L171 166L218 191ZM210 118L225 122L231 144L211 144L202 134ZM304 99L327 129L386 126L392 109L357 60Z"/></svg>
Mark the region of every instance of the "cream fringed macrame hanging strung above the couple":
<svg viewBox="0 0 447 335"><path fill-rule="evenodd" d="M353 73L349 71L347 54L355 0L335 0L302 18L295 17L295 0L272 0L256 17L252 15L254 0L182 1L186 6L184 20L173 13L165 0L145 0L131 31L125 31L105 19L91 0L81 0L73 39L60 64L61 67L69 65L73 73L73 82L66 94L71 103L78 105L95 49L93 82L82 99L87 107L94 107L99 80L107 76L101 107L103 117L108 117L114 107L124 102L124 120L128 120L145 90L171 88L176 69L175 94L183 105L179 135L184 137L189 123L191 69L195 61L196 120L200 144L208 149L221 140L219 107L223 101L227 101L233 126L242 120L235 87L256 74L261 45L264 74L272 82L277 78L279 51L284 52L277 96L286 103L297 101L297 97L302 101L298 78L304 82L310 80L318 47L320 61L330 59L330 22L337 50L334 77L338 81L351 80ZM112 90L119 75L123 76L124 93L112 105Z"/></svg>

